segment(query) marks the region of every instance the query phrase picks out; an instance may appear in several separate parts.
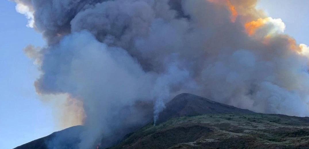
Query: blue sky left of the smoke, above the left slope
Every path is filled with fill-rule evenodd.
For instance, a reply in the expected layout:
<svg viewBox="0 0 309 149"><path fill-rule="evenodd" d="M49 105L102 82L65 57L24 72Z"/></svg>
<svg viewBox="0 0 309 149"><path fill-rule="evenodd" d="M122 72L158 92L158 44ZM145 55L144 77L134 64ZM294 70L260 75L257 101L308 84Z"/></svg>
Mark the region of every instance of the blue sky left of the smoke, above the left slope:
<svg viewBox="0 0 309 149"><path fill-rule="evenodd" d="M23 48L44 45L41 35L26 27L15 4L0 1L0 148L10 149L55 131L52 111L42 103L33 82L38 71Z"/></svg>

